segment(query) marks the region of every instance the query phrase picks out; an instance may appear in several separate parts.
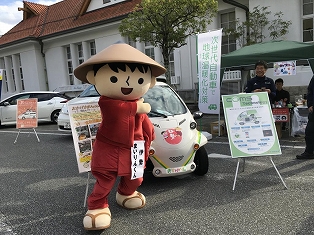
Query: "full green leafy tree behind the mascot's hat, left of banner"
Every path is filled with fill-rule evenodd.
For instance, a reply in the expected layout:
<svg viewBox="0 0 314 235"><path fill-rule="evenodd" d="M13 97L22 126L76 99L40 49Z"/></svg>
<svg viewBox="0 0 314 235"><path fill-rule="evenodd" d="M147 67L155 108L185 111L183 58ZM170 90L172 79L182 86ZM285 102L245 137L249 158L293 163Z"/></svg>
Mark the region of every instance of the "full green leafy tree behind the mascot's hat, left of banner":
<svg viewBox="0 0 314 235"><path fill-rule="evenodd" d="M205 32L217 10L217 0L142 0L122 20L119 30L133 41L161 48L169 83L170 53L186 45L188 36Z"/></svg>

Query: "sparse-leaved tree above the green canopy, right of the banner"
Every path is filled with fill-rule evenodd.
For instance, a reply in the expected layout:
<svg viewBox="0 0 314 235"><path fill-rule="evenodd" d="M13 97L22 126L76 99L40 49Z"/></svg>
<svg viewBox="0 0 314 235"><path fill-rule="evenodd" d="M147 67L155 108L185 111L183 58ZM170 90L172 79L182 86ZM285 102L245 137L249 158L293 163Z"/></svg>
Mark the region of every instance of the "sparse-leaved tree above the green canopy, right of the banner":
<svg viewBox="0 0 314 235"><path fill-rule="evenodd" d="M267 26L269 37L272 40L286 35L292 24L291 20L284 21L282 19L283 13L280 11L276 12L274 14L275 19L270 21L268 17L271 11L268 11L268 8L254 7L253 11L249 12L248 20L240 22L237 19L236 27L224 29L224 33L235 38L241 47L263 42L266 38L265 28Z"/></svg>

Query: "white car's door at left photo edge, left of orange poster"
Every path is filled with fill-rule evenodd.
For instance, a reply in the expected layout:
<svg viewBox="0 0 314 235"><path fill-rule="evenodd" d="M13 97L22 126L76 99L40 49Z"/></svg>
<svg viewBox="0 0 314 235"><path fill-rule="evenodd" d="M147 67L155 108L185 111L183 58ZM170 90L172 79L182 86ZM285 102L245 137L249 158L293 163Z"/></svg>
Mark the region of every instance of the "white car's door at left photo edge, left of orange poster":
<svg viewBox="0 0 314 235"><path fill-rule="evenodd" d="M17 100L28 99L30 94L17 94L1 102L1 124L16 123Z"/></svg>

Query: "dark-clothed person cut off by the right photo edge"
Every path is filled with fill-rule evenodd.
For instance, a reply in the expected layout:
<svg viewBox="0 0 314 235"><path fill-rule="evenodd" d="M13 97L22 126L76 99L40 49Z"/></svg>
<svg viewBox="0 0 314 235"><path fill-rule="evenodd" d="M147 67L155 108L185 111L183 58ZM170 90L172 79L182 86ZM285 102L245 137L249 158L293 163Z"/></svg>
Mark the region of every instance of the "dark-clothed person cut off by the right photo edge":
<svg viewBox="0 0 314 235"><path fill-rule="evenodd" d="M313 114L313 102L314 102L314 76L312 77L309 86L307 87L307 107L309 110L308 122L305 128L305 150L300 155L297 155L297 159L314 159L314 114Z"/></svg>

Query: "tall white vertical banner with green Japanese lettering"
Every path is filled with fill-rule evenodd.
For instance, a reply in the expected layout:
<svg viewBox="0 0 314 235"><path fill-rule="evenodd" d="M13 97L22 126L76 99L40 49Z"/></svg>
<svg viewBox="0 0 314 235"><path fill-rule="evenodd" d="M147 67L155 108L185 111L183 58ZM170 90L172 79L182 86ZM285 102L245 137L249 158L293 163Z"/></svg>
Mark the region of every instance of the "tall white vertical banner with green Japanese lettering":
<svg viewBox="0 0 314 235"><path fill-rule="evenodd" d="M203 113L220 113L220 61L222 29L197 36L198 107Z"/></svg>

